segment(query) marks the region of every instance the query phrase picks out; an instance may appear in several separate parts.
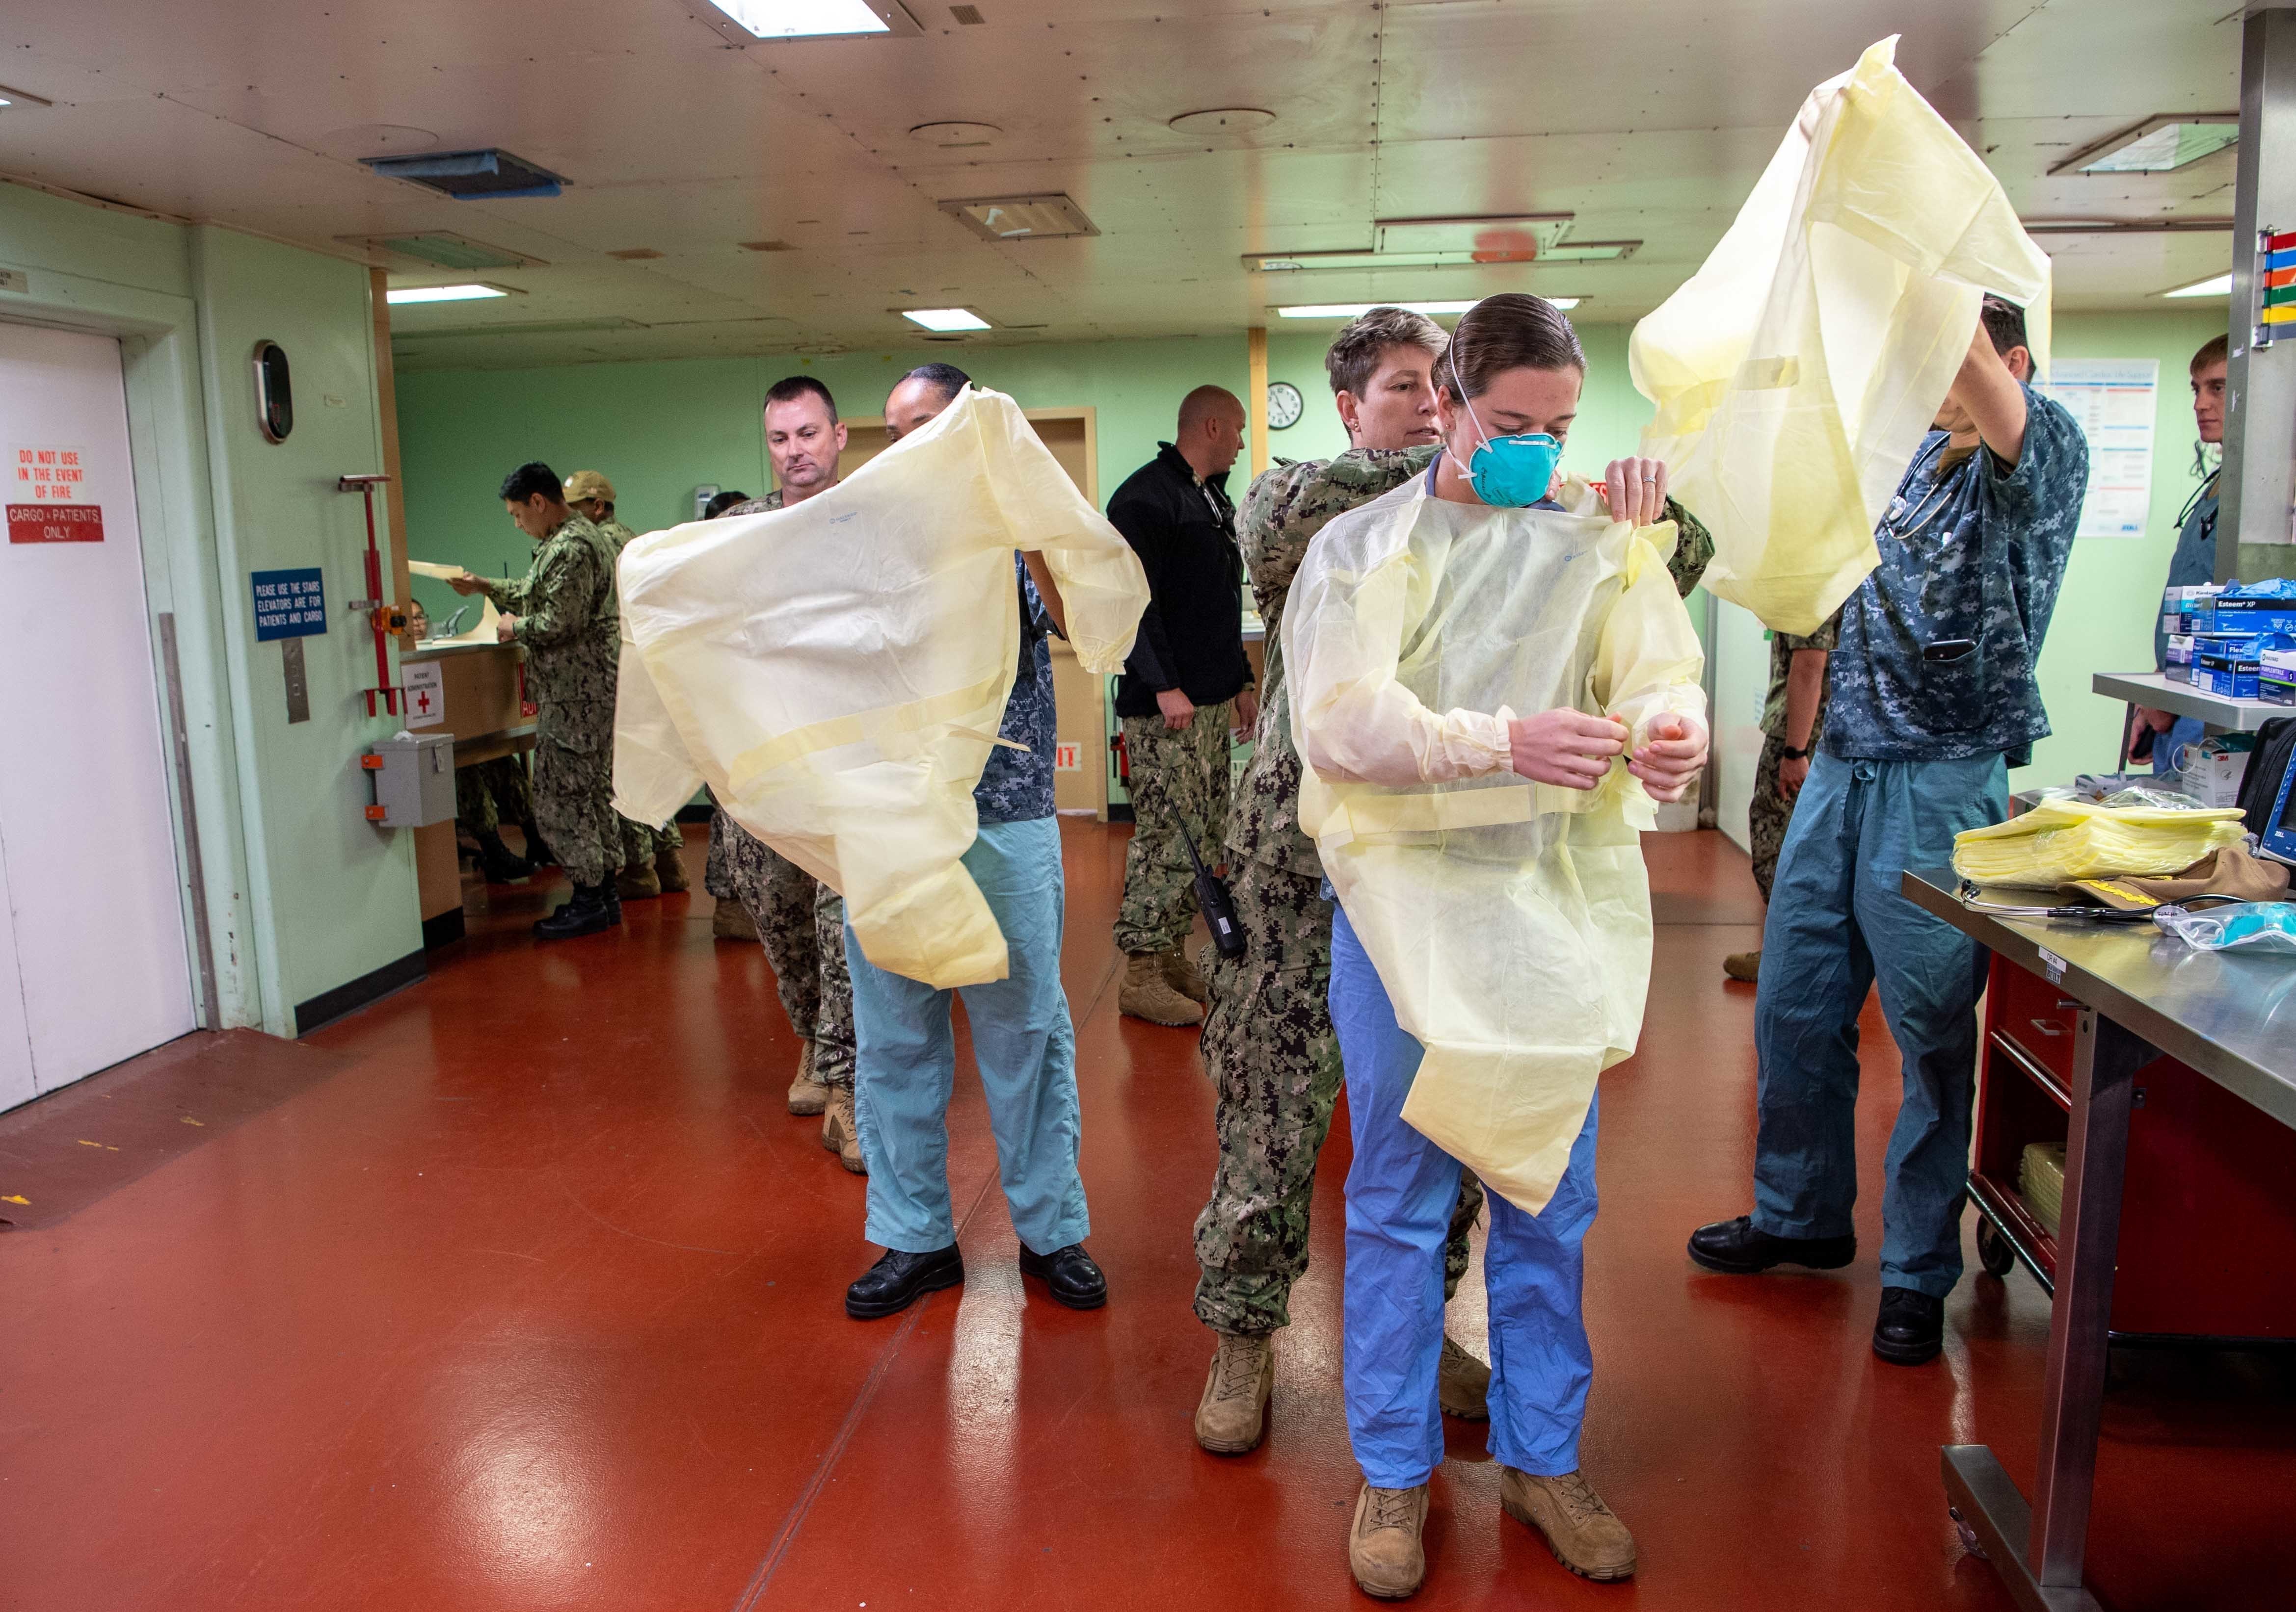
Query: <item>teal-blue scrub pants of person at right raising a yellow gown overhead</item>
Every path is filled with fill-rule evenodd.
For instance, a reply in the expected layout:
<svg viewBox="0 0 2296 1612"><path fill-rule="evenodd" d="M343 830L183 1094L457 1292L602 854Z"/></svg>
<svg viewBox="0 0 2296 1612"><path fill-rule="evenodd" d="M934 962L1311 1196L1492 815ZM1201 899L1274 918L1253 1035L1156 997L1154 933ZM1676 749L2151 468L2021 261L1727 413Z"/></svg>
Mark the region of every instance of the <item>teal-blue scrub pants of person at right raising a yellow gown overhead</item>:
<svg viewBox="0 0 2296 1612"><path fill-rule="evenodd" d="M1878 983L1906 1065L1880 1196L1885 1288L1945 1297L1961 1279L1986 978L1986 951L1906 900L1899 875L1949 866L1956 834L2007 811L2000 755L1880 762L1821 753L1777 859L1754 999L1754 1226L1773 1238L1853 1231L1857 1013Z"/></svg>

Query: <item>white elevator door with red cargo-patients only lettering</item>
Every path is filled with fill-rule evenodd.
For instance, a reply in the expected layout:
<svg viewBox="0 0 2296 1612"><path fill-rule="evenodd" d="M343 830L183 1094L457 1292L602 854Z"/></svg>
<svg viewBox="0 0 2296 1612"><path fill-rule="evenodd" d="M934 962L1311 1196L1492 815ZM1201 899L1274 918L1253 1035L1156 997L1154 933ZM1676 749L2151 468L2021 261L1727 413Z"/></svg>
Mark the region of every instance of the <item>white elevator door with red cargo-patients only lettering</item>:
<svg viewBox="0 0 2296 1612"><path fill-rule="evenodd" d="M0 1109L193 1029L119 342L0 324Z"/></svg>

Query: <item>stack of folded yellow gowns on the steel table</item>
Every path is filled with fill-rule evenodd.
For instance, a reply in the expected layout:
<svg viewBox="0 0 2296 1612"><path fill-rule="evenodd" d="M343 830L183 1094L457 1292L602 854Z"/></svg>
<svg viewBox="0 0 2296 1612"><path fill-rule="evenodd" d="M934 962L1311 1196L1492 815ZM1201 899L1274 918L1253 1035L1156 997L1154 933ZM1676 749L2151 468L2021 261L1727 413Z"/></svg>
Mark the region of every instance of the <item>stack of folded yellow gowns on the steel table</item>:
<svg viewBox="0 0 2296 1612"><path fill-rule="evenodd" d="M1954 836L1954 873L1972 884L2053 891L2073 879L2183 873L2239 845L2241 813L2170 806L2099 806L2050 799L2009 822Z"/></svg>

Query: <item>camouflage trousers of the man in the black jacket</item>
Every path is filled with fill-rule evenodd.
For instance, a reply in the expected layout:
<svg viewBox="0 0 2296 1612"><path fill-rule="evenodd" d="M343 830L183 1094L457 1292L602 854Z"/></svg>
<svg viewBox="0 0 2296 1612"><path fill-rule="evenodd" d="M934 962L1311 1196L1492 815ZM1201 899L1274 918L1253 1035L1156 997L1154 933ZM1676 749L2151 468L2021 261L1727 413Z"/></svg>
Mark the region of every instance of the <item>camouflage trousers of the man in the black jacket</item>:
<svg viewBox="0 0 2296 1612"><path fill-rule="evenodd" d="M1171 951L1196 923L1196 868L1180 824L1208 866L1226 854L1228 723L1235 705L1199 705L1178 733L1162 716L1125 716L1132 845L1125 847L1125 902L1116 914L1118 951Z"/></svg>

